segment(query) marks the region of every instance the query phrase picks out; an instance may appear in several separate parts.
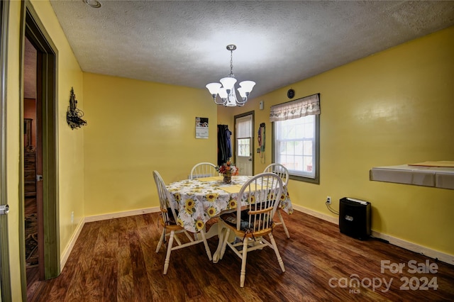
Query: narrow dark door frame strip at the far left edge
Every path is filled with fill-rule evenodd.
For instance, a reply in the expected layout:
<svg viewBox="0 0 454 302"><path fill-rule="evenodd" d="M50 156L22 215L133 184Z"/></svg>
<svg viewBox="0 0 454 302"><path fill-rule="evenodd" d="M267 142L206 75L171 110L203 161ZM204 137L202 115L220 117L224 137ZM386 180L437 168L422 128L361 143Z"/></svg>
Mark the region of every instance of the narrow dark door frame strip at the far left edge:
<svg viewBox="0 0 454 302"><path fill-rule="evenodd" d="M0 4L0 204L8 201L6 194L6 80L8 71L9 1ZM9 267L8 216L0 216L0 301L11 301L11 271Z"/></svg>

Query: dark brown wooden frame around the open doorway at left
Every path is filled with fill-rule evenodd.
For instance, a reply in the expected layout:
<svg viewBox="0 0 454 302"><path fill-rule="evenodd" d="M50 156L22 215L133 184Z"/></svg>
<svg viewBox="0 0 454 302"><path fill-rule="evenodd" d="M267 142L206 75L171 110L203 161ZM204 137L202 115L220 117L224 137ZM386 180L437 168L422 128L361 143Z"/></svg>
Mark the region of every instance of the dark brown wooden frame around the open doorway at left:
<svg viewBox="0 0 454 302"><path fill-rule="evenodd" d="M30 1L22 2L21 8L21 68L20 68L20 120L23 120L23 77L24 77L24 50L25 37L33 44L38 51L38 65L42 67L37 74L36 102L41 102L43 107L43 137L41 144L43 147L43 261L44 269L40 273L41 279L51 279L60 274L60 230L58 216L58 140L57 140L57 47L50 39L50 35L45 30L43 23L38 18L38 14L33 9ZM38 69L39 70L39 69ZM23 123L20 123L20 133L23 135ZM21 221L24 220L24 195L23 195L23 139L21 142L21 181L22 194L20 194L20 214ZM39 207L40 205L38 205ZM39 213L39 210L38 210ZM39 221L40 218L38 218ZM19 233L21 236L21 284L23 296L26 300L26 262L25 262L25 230L24 224L20 224Z"/></svg>

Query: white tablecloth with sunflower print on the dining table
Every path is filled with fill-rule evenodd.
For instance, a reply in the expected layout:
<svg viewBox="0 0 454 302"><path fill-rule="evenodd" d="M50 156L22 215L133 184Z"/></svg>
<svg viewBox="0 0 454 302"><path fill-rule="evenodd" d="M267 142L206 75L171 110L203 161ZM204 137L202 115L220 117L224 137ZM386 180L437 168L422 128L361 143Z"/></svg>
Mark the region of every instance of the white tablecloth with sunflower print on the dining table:
<svg viewBox="0 0 454 302"><path fill-rule="evenodd" d="M177 223L190 232L201 230L206 221L218 216L221 211L236 208L238 192L250 178L234 176L231 184L224 184L223 177L184 179L169 184L167 189L178 211ZM284 186L280 206L286 213L293 213L287 186Z"/></svg>

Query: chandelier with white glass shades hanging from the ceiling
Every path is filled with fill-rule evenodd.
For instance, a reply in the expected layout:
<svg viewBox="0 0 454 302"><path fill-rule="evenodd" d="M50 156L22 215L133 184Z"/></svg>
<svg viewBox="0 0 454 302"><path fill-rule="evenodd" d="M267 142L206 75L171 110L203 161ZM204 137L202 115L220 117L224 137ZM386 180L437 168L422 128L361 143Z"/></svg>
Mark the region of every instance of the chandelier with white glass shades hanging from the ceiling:
<svg viewBox="0 0 454 302"><path fill-rule="evenodd" d="M233 74L233 50L236 50L236 45L227 45L227 50L230 50L230 74L228 77L223 77L219 82L221 83L210 83L206 84L206 89L210 91L211 96L213 96L214 103L223 106L244 106L248 101L248 96L250 91L253 91L255 82L253 81L243 81L240 82L240 88L238 88L238 93L240 94L241 99L238 100L236 97L235 91L235 75ZM219 94L221 101L218 101L216 96Z"/></svg>

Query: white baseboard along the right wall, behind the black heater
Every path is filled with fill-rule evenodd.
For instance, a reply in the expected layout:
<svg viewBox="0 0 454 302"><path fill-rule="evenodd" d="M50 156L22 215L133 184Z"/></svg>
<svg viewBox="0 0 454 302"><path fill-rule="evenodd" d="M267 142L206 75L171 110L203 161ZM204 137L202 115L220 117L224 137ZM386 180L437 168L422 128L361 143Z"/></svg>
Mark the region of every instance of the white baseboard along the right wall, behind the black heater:
<svg viewBox="0 0 454 302"><path fill-rule="evenodd" d="M338 217L328 216L324 213L313 211L309 208L304 208L302 206L294 205L293 208L294 208L294 210L309 214L311 216L320 218L322 220L326 220L330 223L334 223L336 225L339 224ZM437 250L432 250L428 247L423 247L422 245L417 245L416 243L413 243L413 242L402 240L400 238L393 237L393 236L390 236L387 234L375 232L375 230L372 230L372 236L376 237L376 238L380 238L382 240L386 240L387 242L389 242L392 245L396 245L397 247L402 247L406 250L410 250L411 252L416 252L418 254L425 255L427 257L439 260L441 262L445 262L445 263L454 265L454 255L449 255L449 254L445 254L443 252L438 252Z"/></svg>

